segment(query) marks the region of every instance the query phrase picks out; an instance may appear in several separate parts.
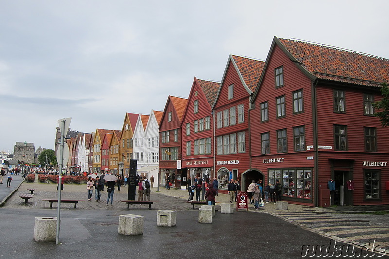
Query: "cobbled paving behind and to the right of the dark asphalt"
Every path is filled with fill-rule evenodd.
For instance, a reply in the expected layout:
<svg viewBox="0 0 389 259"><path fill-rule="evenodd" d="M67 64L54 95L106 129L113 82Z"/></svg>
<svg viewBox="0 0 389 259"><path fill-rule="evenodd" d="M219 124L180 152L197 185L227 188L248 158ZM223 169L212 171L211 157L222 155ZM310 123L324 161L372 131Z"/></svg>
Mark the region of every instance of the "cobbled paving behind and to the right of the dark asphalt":
<svg viewBox="0 0 389 259"><path fill-rule="evenodd" d="M53 183L27 183L23 182L18 190L9 198L5 204L5 208L26 208L26 209L50 209L48 201L42 199L57 198L57 185ZM19 198L19 195L29 193L27 189L35 190L35 195L24 204L24 200ZM62 199L83 199L85 202L77 204L77 210L125 210L127 204L119 202L127 200L127 187L122 187L119 192L115 187L113 206L106 206L106 191L102 192L101 202L95 202L94 193L92 201L88 201L88 191L84 184L65 184L64 190L61 192ZM171 210L192 210L192 205L185 203L188 199L186 190L166 190L160 187L151 189L151 200L160 201L154 203L151 208L153 210L171 209ZM216 209L220 209L220 203L230 203L230 196L227 194L219 194L216 196ZM148 209L148 205L130 205L130 209ZM195 205L199 208L200 205ZM57 208L57 203L53 204L53 209ZM73 209L74 204L61 203L62 209ZM352 243L356 246L369 245L369 240L373 239L375 245L386 247L387 254L389 250L389 220L386 215L371 215L371 214L351 214L339 213L336 210L319 207L308 207L295 204L288 204L288 210L277 210L276 204L265 203L265 207L260 210L254 210L253 204L249 204L250 212L254 213L269 213L276 217L282 218L292 224L296 224L302 228L316 232L320 235L336 239L337 241ZM365 208L366 210L366 208ZM344 211L343 211L344 212Z"/></svg>

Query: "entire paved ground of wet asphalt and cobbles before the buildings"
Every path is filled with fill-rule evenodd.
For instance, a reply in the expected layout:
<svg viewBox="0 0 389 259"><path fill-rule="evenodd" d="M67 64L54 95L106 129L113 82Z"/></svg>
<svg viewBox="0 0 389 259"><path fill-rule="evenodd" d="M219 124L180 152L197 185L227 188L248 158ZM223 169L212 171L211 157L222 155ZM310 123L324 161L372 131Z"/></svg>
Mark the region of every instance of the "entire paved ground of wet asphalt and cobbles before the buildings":
<svg viewBox="0 0 389 259"><path fill-rule="evenodd" d="M261 251L261 255L266 255L268 258L297 258L301 257L302 245L325 245L329 244L331 239L353 243L356 247L362 247L368 244L370 239L374 239L375 245L380 244L389 248L387 214L351 214L334 209L293 204L288 205L288 210L280 211L276 210L276 205L271 203L267 203L265 207L255 211L253 205L250 204L250 212L240 211L234 212L232 215L217 213L215 220L212 220L212 224L208 225L197 222L197 208L200 206L195 206L196 209L193 210L190 204L185 203L188 197L186 190L166 190L161 187L160 191L156 192L157 188L153 188L151 200L160 202L154 203L151 210L148 209L148 205L130 205L130 209L127 210L127 205L119 202L127 199L127 187L122 187L120 192L115 190L113 206L106 206L106 192L102 193L102 202L88 201L85 185L65 184L62 199L84 199L86 201L79 202L76 210L73 209L73 204L61 204L60 239L65 245L62 245L60 249L53 250L52 244L36 243L32 236L36 216L56 216L57 214L57 203L54 203L53 209L50 209L49 202L41 200L57 198L57 185L23 182L15 190L18 186L17 181L21 182L21 177L18 179L19 177L14 177L16 179L10 190L0 190L0 195L3 195L3 192L10 194L13 189L15 191L0 209L0 216L3 219L0 222L0 229L9 229L7 241L0 244L0 255L8 256L7 258L14 258L13 256L16 254L13 253L16 253L18 249L14 249L15 252L10 251L10 249L13 250L15 247L13 244L19 241L30 247L32 251L36 250L36 253L39 250L37 247L39 247L43 251L47 249L47 252L53 252L58 258L65 258L66 256L62 257L60 253L65 251L65 253L71 253L70 250L73 246L77 253L80 253L79 250L89 247L90 249L98 249L99 245L103 243L113 242L119 246L126 246L125 240L127 239L131 240L131 244L134 242L146 245L154 251L155 258L164 258L163 255L169 255L169 251L177 253L177 255L182 253L182 255L191 256L189 251L193 252L195 247L203 247L208 252L210 249L207 247L209 248L210 245L216 247L215 251L211 252L211 258L213 256L219 258L218 255L223 258L242 258L250 256L250 253L256 250ZM24 200L19 198L19 195L29 193L27 189L30 188L37 189L35 190L36 194L25 205ZM219 194L216 201L227 203L229 196ZM220 210L219 205L216 208ZM156 227L155 218L159 209L177 210L177 227L170 230L169 228ZM145 233L142 238L122 237L117 234L118 216L123 214L145 216ZM10 228L10 226L12 227ZM277 234L275 235L273 232ZM109 233L109 238L101 237L101 235L106 237L107 233ZM159 236L158 239L156 239L156 235ZM233 242L234 240L244 242L236 243ZM76 244L79 243L82 243L83 249L77 248ZM282 244L285 247L276 244ZM230 251L229 247L233 251ZM271 253L273 250L274 253ZM117 253L115 251L113 249L113 253ZM128 251L137 253L137 250L133 250L133 248ZM24 258L32 257L26 256ZM258 258L262 258L262 256Z"/></svg>

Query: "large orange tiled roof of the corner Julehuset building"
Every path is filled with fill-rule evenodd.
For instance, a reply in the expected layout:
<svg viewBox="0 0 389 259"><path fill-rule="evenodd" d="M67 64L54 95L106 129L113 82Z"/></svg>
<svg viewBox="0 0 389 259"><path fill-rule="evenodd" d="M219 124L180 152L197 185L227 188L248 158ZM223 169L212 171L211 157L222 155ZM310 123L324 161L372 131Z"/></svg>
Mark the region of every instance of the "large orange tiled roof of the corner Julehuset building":
<svg viewBox="0 0 389 259"><path fill-rule="evenodd" d="M303 41L278 40L309 73L331 81L365 86L389 82L389 60Z"/></svg>

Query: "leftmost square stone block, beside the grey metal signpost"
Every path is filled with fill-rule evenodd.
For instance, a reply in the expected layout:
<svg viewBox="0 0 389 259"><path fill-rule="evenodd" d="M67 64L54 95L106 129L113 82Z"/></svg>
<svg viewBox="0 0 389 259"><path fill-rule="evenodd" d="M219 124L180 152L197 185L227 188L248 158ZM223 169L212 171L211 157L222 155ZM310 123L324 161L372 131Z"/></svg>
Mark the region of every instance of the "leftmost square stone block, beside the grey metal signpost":
<svg viewBox="0 0 389 259"><path fill-rule="evenodd" d="M35 217L34 240L52 242L57 240L57 217Z"/></svg>

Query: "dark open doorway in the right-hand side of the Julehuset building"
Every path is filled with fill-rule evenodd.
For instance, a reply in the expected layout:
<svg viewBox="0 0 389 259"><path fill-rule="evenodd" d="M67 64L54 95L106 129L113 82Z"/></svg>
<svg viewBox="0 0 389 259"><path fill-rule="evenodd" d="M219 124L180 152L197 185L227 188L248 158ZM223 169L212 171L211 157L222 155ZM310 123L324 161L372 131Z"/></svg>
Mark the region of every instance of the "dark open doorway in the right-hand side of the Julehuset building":
<svg viewBox="0 0 389 259"><path fill-rule="evenodd" d="M347 180L351 179L350 171L334 171L336 205L353 205L352 191L347 190Z"/></svg>

